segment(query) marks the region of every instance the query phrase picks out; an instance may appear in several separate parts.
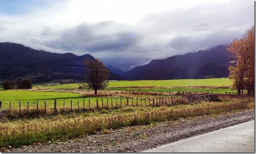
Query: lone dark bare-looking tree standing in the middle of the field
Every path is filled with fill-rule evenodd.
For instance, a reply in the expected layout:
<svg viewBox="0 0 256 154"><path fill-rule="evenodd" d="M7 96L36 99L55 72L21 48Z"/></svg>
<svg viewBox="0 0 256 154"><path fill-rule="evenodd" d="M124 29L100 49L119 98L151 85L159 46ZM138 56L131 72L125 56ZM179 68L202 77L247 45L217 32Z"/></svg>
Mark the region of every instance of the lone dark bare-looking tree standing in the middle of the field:
<svg viewBox="0 0 256 154"><path fill-rule="evenodd" d="M92 60L86 58L83 60L85 66L85 88L94 89L94 94L97 95L98 89L104 89L108 86L107 79L109 78L109 70L99 59Z"/></svg>

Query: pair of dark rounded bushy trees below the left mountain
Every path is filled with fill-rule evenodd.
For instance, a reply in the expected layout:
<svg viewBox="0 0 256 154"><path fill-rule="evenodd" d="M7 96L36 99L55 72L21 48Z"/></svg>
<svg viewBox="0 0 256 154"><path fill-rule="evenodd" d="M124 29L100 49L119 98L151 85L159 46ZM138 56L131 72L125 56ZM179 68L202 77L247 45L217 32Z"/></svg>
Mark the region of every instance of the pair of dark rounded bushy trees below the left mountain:
<svg viewBox="0 0 256 154"><path fill-rule="evenodd" d="M6 80L2 83L4 90L9 89L31 89L33 87L30 79L21 79L17 82Z"/></svg>

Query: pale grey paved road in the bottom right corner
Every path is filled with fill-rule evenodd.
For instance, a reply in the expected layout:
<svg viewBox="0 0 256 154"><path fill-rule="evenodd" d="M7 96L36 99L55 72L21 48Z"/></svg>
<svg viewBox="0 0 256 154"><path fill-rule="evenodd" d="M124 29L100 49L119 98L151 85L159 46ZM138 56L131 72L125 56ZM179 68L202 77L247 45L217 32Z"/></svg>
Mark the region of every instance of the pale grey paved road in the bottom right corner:
<svg viewBox="0 0 256 154"><path fill-rule="evenodd" d="M142 152L255 152L254 120Z"/></svg>

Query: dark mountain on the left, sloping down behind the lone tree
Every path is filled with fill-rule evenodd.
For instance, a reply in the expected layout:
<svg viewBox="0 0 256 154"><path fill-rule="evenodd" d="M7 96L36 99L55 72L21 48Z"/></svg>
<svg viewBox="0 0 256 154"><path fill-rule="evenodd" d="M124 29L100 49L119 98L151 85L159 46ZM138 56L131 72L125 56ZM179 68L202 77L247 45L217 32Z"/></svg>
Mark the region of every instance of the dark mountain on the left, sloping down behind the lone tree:
<svg viewBox="0 0 256 154"><path fill-rule="evenodd" d="M83 56L72 53L56 54L10 42L0 43L0 57L0 81L17 81L27 77L32 83L82 82L84 80L83 59L95 59L90 54ZM110 80L120 78L122 77L116 73L111 73L109 77Z"/></svg>

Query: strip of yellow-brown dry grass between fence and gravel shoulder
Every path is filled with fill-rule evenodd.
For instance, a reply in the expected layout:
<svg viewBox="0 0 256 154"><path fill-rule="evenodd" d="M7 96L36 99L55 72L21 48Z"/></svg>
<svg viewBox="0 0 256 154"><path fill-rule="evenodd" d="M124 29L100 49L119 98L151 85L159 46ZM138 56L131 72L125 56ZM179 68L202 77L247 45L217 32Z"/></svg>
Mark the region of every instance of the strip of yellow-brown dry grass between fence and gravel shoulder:
<svg viewBox="0 0 256 154"><path fill-rule="evenodd" d="M21 146L35 142L45 143L55 139L93 134L97 130L117 129L126 125L150 124L153 121L176 120L218 114L237 109L254 108L254 98L196 103L161 107L126 107L116 110L102 109L85 114L66 114L45 118L3 121L0 125L1 146Z"/></svg>

